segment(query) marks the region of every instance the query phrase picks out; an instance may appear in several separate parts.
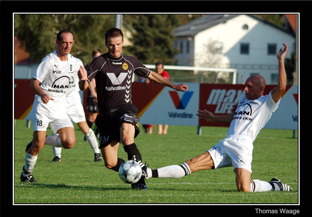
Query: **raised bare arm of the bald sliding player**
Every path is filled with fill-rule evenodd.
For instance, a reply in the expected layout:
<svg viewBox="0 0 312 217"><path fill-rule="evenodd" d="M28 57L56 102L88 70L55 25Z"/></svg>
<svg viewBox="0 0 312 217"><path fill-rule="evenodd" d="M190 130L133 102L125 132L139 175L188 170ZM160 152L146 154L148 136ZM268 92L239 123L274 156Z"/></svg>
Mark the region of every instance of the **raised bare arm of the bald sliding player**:
<svg viewBox="0 0 312 217"><path fill-rule="evenodd" d="M283 43L283 45L284 49L280 49L276 55L278 59L278 85L271 90L272 99L275 103L280 100L280 97L285 92L287 83L284 59L288 51L288 45L286 43Z"/></svg>

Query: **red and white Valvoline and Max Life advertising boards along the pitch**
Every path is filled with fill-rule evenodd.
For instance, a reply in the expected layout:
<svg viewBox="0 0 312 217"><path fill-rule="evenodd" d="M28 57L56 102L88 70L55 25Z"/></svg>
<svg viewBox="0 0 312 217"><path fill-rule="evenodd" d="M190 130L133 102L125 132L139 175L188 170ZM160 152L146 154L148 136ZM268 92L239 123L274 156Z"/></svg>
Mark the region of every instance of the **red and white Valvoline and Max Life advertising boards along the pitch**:
<svg viewBox="0 0 312 217"><path fill-rule="evenodd" d="M31 109L35 93L30 89L30 79L14 79L14 118L31 120ZM239 99L245 94L244 85L233 84L188 84L189 90L176 92L156 83L132 83L132 102L139 109L140 123L186 126L229 126L229 124L206 122L196 116L197 110L208 110L215 115L228 115L235 112ZM264 94L276 85L267 85ZM168 89L166 91L166 88ZM85 116L86 94L83 107ZM179 95L178 95L179 94ZM298 129L298 86L287 85L277 112L274 112L266 128ZM180 104L182 106L180 106ZM174 116L174 114L178 114ZM192 118L184 118L184 114Z"/></svg>

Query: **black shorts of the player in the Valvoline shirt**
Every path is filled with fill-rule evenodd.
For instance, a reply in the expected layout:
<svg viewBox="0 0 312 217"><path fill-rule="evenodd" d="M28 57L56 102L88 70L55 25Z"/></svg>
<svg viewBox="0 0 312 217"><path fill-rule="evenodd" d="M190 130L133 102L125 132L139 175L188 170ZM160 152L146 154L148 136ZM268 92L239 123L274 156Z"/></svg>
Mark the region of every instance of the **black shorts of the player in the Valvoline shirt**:
<svg viewBox="0 0 312 217"><path fill-rule="evenodd" d="M127 104L119 108L100 112L96 117L95 125L99 129L100 148L110 144L111 141L120 142L120 127L122 123L130 123L135 128L134 138L139 135L138 108L135 105Z"/></svg>

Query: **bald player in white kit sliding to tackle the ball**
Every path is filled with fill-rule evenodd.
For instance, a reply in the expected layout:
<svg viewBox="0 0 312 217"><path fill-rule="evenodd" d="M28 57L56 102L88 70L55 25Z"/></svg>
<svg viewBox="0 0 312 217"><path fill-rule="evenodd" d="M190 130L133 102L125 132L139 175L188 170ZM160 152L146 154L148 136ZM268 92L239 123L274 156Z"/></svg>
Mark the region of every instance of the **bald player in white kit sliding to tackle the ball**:
<svg viewBox="0 0 312 217"><path fill-rule="evenodd" d="M199 118L206 121L217 121L231 123L227 131L227 137L220 140L218 144L197 157L187 160L181 165L170 165L159 169L150 169L144 165L138 156L134 155L133 160L139 162L143 169L145 179L153 178L180 178L199 170L219 169L233 166L236 174L236 187L238 191L261 192L261 191L290 191L290 186L273 178L270 182L251 180L251 161L253 141L261 129L271 118L280 104L282 94L286 88L286 72L284 59L288 50L287 44L283 44L277 54L278 59L278 85L273 88L270 94L263 96L266 86L265 79L260 75L250 76L245 82L245 95L234 114L214 115L204 110L197 111Z"/></svg>

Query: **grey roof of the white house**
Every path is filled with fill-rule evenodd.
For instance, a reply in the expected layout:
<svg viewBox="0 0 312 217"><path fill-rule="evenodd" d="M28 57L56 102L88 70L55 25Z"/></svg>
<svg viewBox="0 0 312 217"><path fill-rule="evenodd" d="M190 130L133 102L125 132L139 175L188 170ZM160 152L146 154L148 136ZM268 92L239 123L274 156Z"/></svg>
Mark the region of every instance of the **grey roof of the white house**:
<svg viewBox="0 0 312 217"><path fill-rule="evenodd" d="M228 20L240 16L241 14L207 14L203 15L200 18L197 18L187 24L179 26L173 30L173 34L176 37L188 37L195 36L197 33L202 32L206 29L209 29L217 24L227 22ZM253 17L259 21L265 22L269 25L272 25L282 31L287 32L285 29L276 26L275 24L266 21L265 19L251 14L246 14L246 16ZM288 32L289 33L289 32Z"/></svg>

